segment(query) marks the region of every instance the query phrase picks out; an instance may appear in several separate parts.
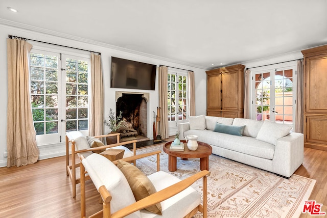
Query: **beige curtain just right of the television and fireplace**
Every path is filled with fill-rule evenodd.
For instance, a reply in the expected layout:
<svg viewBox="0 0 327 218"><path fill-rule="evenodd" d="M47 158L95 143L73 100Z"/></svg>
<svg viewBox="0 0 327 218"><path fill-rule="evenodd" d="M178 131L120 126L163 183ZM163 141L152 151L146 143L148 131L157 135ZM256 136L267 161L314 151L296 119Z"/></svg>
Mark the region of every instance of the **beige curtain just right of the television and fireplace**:
<svg viewBox="0 0 327 218"><path fill-rule="evenodd" d="M160 114L160 136L162 139L169 137L168 133L168 67L159 67L159 107Z"/></svg>

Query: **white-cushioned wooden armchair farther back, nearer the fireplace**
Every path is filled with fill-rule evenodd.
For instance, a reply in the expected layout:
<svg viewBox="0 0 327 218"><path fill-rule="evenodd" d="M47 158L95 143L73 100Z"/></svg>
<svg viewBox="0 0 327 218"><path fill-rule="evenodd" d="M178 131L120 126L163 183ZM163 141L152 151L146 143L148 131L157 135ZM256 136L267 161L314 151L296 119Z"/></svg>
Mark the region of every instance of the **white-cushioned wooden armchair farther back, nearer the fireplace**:
<svg viewBox="0 0 327 218"><path fill-rule="evenodd" d="M77 169L80 167L80 162L77 156L80 156L83 154L83 156L88 156L94 152L100 153L104 149L124 149L124 156L123 157L130 157L136 154L136 140L133 141L127 141L120 143L120 133L114 133L114 134L107 134L107 135L98 135L94 138L105 138L105 137L116 137L117 142L116 144L111 145L104 145L104 146L96 146L91 147L89 142L87 141L87 137L85 137L81 132L79 131L70 131L66 132L66 175L69 176L69 178L72 181L72 195L73 198L76 197L76 185L80 183L79 173L76 172ZM126 148L124 145L133 143L133 151ZM69 144L71 144L71 154L69 155ZM69 156L71 156L71 161L69 161ZM78 159L78 162L76 162L76 159ZM134 161L135 164L135 161ZM87 176L86 179L89 179Z"/></svg>

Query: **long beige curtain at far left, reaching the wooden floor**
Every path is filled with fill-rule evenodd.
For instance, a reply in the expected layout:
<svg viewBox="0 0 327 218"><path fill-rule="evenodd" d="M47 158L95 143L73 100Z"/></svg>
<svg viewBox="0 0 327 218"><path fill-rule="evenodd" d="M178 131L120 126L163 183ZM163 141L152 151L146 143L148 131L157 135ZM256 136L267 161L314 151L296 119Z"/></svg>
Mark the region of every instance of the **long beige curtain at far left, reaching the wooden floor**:
<svg viewBox="0 0 327 218"><path fill-rule="evenodd" d="M35 163L39 157L30 100L29 58L32 45L7 39L7 167Z"/></svg>

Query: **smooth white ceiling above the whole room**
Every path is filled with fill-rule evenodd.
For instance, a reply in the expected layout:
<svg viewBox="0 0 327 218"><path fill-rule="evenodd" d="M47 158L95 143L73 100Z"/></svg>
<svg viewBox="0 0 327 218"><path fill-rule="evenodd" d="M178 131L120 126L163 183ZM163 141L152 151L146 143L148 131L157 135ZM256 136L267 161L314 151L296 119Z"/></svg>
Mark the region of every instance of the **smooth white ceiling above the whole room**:
<svg viewBox="0 0 327 218"><path fill-rule="evenodd" d="M9 21L204 69L327 44L327 0L1 0Z"/></svg>

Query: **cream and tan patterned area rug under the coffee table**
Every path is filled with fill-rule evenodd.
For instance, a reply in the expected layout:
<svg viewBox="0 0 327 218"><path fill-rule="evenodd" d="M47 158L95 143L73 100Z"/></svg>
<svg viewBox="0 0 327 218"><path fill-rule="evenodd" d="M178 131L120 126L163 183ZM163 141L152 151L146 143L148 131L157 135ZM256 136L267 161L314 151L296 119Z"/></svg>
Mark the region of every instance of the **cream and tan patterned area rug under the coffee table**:
<svg viewBox="0 0 327 218"><path fill-rule="evenodd" d="M162 145L137 150L137 154L161 150ZM146 175L156 171L156 155L137 160ZM160 154L160 170L168 171L168 154ZM200 171L200 160L177 158L180 179ZM285 179L217 155L209 156L208 217L298 217L308 200L315 180L293 174ZM202 180L192 185L202 193ZM195 217L202 217L197 213Z"/></svg>

